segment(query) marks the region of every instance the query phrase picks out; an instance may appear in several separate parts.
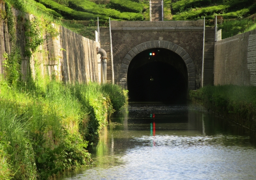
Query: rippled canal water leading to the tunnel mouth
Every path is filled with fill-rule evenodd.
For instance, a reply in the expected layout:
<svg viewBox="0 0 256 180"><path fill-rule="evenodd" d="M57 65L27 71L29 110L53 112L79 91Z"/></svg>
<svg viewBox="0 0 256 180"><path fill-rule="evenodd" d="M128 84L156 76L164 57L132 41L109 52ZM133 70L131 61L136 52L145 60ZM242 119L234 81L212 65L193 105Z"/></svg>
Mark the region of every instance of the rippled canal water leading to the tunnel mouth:
<svg viewBox="0 0 256 180"><path fill-rule="evenodd" d="M130 103L89 152L59 180L256 179L255 135L196 104Z"/></svg>

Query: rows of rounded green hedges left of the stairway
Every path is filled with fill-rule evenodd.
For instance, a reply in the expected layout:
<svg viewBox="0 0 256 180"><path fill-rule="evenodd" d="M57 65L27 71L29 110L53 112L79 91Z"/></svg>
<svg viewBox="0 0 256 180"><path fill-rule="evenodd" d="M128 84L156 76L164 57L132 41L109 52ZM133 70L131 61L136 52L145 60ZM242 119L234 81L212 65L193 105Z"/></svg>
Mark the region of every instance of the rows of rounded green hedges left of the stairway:
<svg viewBox="0 0 256 180"><path fill-rule="evenodd" d="M96 20L97 17L101 20L108 20L108 17L116 20L143 20L143 5L132 1L111 0L105 6L97 5L90 0L36 1L61 14L67 20Z"/></svg>

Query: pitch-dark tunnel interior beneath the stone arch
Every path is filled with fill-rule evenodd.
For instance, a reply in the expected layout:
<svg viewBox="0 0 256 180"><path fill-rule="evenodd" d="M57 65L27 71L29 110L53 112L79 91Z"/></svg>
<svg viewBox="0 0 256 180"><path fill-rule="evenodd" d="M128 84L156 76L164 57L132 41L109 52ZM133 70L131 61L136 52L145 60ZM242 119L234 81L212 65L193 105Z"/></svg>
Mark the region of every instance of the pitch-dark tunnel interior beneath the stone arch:
<svg viewBox="0 0 256 180"><path fill-rule="evenodd" d="M186 64L168 49L145 50L131 60L127 85L129 101L184 103L187 97Z"/></svg>

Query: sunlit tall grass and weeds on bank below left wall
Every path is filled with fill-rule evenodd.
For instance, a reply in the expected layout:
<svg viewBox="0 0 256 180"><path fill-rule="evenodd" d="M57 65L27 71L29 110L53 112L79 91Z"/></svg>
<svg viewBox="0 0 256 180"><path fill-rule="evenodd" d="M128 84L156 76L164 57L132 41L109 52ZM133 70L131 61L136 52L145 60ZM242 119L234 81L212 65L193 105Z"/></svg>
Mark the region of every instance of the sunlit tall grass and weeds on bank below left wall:
<svg viewBox="0 0 256 180"><path fill-rule="evenodd" d="M112 84L0 81L0 179L47 179L91 163L85 149L126 102Z"/></svg>

